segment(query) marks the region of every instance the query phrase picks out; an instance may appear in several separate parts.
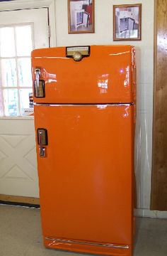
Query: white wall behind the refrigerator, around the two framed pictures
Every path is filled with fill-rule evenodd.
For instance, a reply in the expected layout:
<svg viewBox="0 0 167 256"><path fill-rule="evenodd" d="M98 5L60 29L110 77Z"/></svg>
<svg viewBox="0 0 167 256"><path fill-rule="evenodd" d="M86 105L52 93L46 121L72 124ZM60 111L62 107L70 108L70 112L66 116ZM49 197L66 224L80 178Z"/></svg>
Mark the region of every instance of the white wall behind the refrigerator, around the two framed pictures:
<svg viewBox="0 0 167 256"><path fill-rule="evenodd" d="M132 44L137 53L138 208L150 208L153 112L154 0L95 0L95 33L68 34L67 0L55 0L57 46ZM142 4L142 41L113 42L113 4Z"/></svg>

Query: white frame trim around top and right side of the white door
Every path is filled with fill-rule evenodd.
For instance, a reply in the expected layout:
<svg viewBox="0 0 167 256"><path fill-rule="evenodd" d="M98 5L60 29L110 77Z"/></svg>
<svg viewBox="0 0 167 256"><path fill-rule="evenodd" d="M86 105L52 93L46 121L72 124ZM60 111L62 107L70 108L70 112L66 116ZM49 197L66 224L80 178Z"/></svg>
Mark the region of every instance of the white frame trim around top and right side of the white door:
<svg viewBox="0 0 167 256"><path fill-rule="evenodd" d="M56 46L56 18L55 18L55 4L54 0L17 0L5 1L0 3L0 11L14 11L23 9L33 9L47 7L49 10L50 23L50 46Z"/></svg>

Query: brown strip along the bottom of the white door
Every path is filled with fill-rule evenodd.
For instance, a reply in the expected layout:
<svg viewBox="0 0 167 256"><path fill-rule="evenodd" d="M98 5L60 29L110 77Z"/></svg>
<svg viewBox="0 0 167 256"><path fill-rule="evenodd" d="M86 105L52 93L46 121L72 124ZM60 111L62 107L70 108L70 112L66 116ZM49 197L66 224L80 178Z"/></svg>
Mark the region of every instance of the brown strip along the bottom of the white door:
<svg viewBox="0 0 167 256"><path fill-rule="evenodd" d="M27 196L11 196L11 195L1 195L0 194L1 203L23 203L28 205L40 205L39 198L32 198Z"/></svg>

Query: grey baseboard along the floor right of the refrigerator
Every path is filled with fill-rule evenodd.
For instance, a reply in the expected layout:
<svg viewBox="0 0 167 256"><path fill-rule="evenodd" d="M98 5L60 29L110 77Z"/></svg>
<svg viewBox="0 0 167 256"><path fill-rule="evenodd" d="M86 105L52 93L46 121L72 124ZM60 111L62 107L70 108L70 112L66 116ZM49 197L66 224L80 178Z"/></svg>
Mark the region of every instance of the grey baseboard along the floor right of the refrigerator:
<svg viewBox="0 0 167 256"><path fill-rule="evenodd" d="M167 218L167 211L135 209L134 215L144 218Z"/></svg>

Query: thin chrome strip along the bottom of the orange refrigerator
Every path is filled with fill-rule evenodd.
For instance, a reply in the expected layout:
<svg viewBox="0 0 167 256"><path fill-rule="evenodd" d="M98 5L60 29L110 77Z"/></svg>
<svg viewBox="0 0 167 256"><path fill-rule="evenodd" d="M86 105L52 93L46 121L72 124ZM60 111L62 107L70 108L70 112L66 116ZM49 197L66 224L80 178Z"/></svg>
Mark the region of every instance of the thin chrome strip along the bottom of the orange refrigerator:
<svg viewBox="0 0 167 256"><path fill-rule="evenodd" d="M54 239L54 238L45 238L46 240L54 242L71 242L74 244L79 244L79 245L92 245L92 246L102 246L102 247L111 247L115 249L129 249L129 245L114 245L114 244L98 244L98 243L93 243L93 242L79 242L79 241L73 241L73 240L65 240L65 239Z"/></svg>

